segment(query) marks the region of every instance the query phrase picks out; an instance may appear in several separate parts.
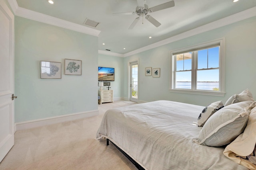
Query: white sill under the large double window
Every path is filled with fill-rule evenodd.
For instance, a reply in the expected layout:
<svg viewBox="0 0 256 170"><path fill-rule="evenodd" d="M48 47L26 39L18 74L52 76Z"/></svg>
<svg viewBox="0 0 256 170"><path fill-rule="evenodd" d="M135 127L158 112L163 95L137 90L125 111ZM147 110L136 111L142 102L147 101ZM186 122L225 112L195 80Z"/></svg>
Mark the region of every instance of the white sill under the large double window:
<svg viewBox="0 0 256 170"><path fill-rule="evenodd" d="M225 96L225 92L213 92L213 91L204 91L204 90L169 89L169 92L186 93L186 94L200 94L200 95L220 96L220 97Z"/></svg>

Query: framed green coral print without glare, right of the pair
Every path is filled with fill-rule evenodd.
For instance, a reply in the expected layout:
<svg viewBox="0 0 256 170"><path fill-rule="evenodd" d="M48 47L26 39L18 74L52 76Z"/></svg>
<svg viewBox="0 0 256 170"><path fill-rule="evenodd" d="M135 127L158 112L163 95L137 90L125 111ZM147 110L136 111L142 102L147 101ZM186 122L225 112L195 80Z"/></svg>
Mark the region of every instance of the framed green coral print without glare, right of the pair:
<svg viewBox="0 0 256 170"><path fill-rule="evenodd" d="M65 59L66 75L82 75L82 61Z"/></svg>

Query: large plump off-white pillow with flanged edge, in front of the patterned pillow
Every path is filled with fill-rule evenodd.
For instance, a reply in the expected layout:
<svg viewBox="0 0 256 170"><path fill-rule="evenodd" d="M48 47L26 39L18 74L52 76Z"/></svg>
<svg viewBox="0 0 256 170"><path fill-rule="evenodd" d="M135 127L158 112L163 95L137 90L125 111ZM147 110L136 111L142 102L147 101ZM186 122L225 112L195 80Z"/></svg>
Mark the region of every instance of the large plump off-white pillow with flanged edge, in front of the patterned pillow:
<svg viewBox="0 0 256 170"><path fill-rule="evenodd" d="M210 147L220 147L231 143L243 133L251 104L246 101L232 104L216 111L202 127L198 138L193 141Z"/></svg>

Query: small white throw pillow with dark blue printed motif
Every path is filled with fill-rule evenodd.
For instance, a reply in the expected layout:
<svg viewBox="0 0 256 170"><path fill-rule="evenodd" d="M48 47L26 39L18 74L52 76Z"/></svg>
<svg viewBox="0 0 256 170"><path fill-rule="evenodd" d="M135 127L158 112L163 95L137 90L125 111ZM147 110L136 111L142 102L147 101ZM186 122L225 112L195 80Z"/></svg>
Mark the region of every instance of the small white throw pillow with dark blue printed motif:
<svg viewBox="0 0 256 170"><path fill-rule="evenodd" d="M223 106L222 101L218 101L218 102L214 102L212 104L209 104L208 106L206 106L202 113L200 113L199 117L198 117L198 121L197 121L197 125L198 126L203 126L204 123L209 119L209 117L211 115L213 115L213 113L215 113L216 111L218 111L219 109L221 109Z"/></svg>

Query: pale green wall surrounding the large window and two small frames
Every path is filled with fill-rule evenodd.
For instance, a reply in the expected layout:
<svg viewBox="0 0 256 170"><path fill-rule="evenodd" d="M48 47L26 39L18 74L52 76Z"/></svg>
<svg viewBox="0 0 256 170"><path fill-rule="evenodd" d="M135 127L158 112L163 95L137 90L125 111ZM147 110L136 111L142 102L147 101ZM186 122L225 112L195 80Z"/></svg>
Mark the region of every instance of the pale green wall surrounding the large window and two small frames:
<svg viewBox="0 0 256 170"><path fill-rule="evenodd" d="M139 100L171 100L205 106L226 100L248 88L256 99L256 17L156 47L124 58L124 96L128 96L128 61L139 59ZM225 96L169 92L170 51L225 38ZM161 68L160 78L145 76L145 68Z"/></svg>

